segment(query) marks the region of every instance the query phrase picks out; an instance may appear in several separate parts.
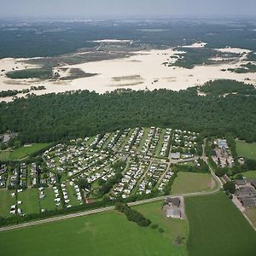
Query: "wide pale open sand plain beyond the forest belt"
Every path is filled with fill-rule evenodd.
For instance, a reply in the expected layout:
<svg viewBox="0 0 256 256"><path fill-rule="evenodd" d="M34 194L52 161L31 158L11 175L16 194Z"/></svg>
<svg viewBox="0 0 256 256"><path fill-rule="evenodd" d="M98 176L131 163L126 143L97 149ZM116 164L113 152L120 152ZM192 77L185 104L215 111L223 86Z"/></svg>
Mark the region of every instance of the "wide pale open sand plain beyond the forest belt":
<svg viewBox="0 0 256 256"><path fill-rule="evenodd" d="M204 45L204 43L193 44L191 47L204 47ZM185 48L184 51L186 50ZM247 49L227 48L218 50L221 52L240 53L241 58L236 61L230 60L228 64L220 64L219 61L221 60L217 59L216 65L202 65L186 69L182 67L168 67L168 65L163 64L165 62L174 63L177 60L177 56L183 53L181 51L175 49L138 51L135 55L122 59L92 61L58 67L58 69L61 68L65 71L61 73L61 76L65 76L70 68L79 68L85 73L97 73L96 76L65 81L8 79L5 73L12 71L13 68L20 70L25 67L32 68L34 66L25 64L22 62L22 59L2 59L0 60L0 90L22 90L30 88L32 85L44 85L46 87L46 90L33 91L37 95L67 90L95 90L98 93L104 93L118 88L131 88L132 90L145 90L146 88L148 90L160 88L185 90L188 87L201 85L214 79L236 79L237 81L256 84L256 73L222 71L223 69L239 67L241 63L247 63L245 61L246 55L249 52ZM0 100L9 102L12 100L12 97Z"/></svg>

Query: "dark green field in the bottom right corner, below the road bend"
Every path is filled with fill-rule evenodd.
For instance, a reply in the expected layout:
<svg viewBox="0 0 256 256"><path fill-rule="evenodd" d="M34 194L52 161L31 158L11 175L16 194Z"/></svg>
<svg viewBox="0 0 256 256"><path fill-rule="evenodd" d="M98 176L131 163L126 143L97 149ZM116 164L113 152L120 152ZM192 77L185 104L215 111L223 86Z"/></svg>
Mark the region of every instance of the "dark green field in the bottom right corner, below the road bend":
<svg viewBox="0 0 256 256"><path fill-rule="evenodd" d="M256 232L224 193L185 198L190 256L253 256Z"/></svg>

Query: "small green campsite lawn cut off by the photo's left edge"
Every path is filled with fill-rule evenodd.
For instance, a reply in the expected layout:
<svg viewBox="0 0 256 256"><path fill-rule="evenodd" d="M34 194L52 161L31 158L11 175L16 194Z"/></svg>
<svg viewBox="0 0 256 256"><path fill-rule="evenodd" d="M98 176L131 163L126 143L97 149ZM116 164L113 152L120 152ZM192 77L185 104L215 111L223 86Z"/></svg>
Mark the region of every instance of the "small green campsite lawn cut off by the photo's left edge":
<svg viewBox="0 0 256 256"><path fill-rule="evenodd" d="M15 205L16 198L11 196L15 190L0 189L0 217L10 217L10 207Z"/></svg>

